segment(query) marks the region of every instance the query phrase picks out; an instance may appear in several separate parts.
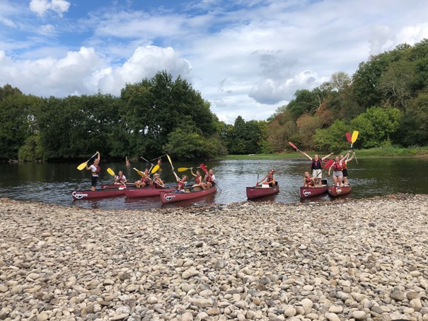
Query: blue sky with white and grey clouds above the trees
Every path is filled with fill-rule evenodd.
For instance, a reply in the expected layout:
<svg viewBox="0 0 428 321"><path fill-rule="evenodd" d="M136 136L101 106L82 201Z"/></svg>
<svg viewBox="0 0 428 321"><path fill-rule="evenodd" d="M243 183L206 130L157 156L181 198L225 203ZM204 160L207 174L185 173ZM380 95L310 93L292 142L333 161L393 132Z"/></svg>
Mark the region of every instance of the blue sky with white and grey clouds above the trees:
<svg viewBox="0 0 428 321"><path fill-rule="evenodd" d="M0 0L0 87L120 95L167 71L221 121L263 120L297 90L428 38L427 0Z"/></svg>

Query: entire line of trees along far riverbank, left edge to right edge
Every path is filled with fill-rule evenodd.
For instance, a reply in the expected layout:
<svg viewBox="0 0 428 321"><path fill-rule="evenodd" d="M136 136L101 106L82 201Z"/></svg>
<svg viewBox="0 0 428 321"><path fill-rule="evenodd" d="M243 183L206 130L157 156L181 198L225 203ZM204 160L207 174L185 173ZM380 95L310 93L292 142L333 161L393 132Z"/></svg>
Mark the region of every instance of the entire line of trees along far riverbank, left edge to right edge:
<svg viewBox="0 0 428 321"><path fill-rule="evenodd" d="M40 98L0 88L0 158L21 161L84 158L209 159L289 149L340 151L345 132L355 147L427 146L428 40L399 45L342 71L313 90L296 91L269 119L225 124L209 103L166 71L127 84L120 97Z"/></svg>

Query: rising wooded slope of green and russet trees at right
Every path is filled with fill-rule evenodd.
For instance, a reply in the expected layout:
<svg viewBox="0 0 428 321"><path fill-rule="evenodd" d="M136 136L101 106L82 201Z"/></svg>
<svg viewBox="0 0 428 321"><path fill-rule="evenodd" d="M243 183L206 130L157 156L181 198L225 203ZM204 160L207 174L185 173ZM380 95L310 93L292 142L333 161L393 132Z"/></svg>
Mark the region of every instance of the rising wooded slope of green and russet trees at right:
<svg viewBox="0 0 428 321"><path fill-rule="evenodd" d="M268 119L267 141L284 151L287 141L306 150L349 147L345 132L359 131L357 148L428 145L428 40L399 45L312 91L296 91Z"/></svg>

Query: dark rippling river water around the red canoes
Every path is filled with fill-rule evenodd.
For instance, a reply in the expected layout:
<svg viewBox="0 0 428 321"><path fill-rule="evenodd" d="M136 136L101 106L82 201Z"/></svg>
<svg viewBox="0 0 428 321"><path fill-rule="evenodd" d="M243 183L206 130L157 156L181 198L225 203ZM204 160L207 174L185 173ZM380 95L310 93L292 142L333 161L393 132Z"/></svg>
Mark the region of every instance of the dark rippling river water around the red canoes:
<svg viewBox="0 0 428 321"><path fill-rule="evenodd" d="M310 163L305 159L260 160L260 161L207 161L208 168L214 169L219 189L216 194L195 199L185 203L162 205L158 197L127 199L113 197L97 200L74 201L71 191L90 188L90 173L79 171L77 163L0 163L2 180L0 180L0 196L24 201L79 206L90 209L152 209L174 206L203 206L207 204L229 204L245 201L245 187L255 185L271 168L275 170L275 178L279 182L279 193L259 199L282 203L332 201L336 199L361 199L378 195L410 193L428 193L428 158L367 158L358 159L358 164L351 161L348 166L349 183L352 192L342 197L331 198L328 194L313 199L300 200L299 187L303 181L303 173ZM146 163L132 163L129 168L124 163L100 162L101 173L99 184L112 182L107 168L115 173L123 170L130 182L139 179L133 167L144 170ZM173 163L175 168L196 167L193 163ZM170 164L161 166L161 178L164 182L174 182ZM328 177L328 170L323 177ZM187 170L190 175L190 170ZM178 173L179 175L181 173ZM191 176L191 175L190 175ZM252 201L252 202L259 202Z"/></svg>

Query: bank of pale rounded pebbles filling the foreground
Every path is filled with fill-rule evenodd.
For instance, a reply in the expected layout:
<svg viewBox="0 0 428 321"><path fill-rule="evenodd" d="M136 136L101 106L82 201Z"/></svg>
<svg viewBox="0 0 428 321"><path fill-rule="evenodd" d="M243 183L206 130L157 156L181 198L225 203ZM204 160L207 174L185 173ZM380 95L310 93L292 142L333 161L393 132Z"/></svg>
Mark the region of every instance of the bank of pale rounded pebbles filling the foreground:
<svg viewBox="0 0 428 321"><path fill-rule="evenodd" d="M427 206L0 199L0 320L428 320Z"/></svg>

